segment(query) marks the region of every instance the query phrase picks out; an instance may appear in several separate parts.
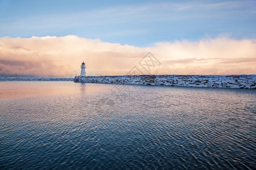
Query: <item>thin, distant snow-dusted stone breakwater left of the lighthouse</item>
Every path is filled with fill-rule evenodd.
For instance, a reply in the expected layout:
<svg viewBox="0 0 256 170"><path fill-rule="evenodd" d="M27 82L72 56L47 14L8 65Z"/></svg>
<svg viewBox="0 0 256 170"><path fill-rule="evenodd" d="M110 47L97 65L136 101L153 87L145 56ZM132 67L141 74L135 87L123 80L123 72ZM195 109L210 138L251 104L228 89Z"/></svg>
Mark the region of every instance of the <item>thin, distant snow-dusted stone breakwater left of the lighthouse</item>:
<svg viewBox="0 0 256 170"><path fill-rule="evenodd" d="M0 81L73 81L74 78L0 77Z"/></svg>

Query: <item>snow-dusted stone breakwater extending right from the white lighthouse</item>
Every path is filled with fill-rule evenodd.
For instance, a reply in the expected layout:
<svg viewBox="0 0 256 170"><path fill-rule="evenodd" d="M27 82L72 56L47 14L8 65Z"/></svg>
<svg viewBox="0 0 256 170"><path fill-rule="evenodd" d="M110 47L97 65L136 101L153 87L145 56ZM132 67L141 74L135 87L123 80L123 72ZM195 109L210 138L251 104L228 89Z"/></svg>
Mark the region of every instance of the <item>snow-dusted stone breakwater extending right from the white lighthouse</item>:
<svg viewBox="0 0 256 170"><path fill-rule="evenodd" d="M256 89L256 75L121 75L76 76L75 82Z"/></svg>

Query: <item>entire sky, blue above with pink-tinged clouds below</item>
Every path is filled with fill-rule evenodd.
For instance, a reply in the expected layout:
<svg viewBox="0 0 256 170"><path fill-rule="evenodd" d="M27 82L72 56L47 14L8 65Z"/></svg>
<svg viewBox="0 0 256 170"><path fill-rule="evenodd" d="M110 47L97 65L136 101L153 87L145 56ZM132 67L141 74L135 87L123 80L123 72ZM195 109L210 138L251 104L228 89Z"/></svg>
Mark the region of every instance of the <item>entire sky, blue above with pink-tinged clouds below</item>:
<svg viewBox="0 0 256 170"><path fill-rule="evenodd" d="M256 74L255 28L256 1L0 0L0 76Z"/></svg>

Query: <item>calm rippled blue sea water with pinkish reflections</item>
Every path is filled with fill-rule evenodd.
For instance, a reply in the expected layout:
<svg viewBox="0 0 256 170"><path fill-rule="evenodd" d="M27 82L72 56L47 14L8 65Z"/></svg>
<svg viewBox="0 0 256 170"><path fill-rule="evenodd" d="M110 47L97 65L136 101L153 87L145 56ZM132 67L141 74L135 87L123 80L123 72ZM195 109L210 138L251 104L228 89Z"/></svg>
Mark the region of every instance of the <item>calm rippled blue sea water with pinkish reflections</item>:
<svg viewBox="0 0 256 170"><path fill-rule="evenodd" d="M0 169L255 169L256 91L0 82Z"/></svg>

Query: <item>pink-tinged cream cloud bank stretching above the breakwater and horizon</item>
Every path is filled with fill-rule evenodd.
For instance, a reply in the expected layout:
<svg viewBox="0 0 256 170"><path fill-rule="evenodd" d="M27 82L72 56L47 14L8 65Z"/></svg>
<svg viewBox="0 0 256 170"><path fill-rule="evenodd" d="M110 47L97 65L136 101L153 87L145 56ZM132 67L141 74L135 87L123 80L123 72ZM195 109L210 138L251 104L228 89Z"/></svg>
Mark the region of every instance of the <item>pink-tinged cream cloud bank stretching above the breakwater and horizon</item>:
<svg viewBox="0 0 256 170"><path fill-rule="evenodd" d="M77 36L0 38L0 76L73 77L86 63L87 75L126 75L151 52L160 65L151 74L256 74L256 40L228 37L156 42L148 48ZM150 62L148 63L150 64Z"/></svg>

